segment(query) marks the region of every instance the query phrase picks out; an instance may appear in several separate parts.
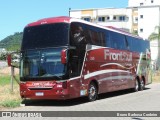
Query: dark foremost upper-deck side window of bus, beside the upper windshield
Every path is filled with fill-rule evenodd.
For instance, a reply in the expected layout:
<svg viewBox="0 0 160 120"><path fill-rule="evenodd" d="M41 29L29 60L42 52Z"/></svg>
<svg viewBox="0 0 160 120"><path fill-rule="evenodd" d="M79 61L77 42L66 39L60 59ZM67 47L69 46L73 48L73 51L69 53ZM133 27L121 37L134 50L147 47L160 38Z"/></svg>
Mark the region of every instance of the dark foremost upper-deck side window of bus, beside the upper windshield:
<svg viewBox="0 0 160 120"><path fill-rule="evenodd" d="M105 34L102 29L81 23L71 24L71 45L99 45L104 46Z"/></svg>

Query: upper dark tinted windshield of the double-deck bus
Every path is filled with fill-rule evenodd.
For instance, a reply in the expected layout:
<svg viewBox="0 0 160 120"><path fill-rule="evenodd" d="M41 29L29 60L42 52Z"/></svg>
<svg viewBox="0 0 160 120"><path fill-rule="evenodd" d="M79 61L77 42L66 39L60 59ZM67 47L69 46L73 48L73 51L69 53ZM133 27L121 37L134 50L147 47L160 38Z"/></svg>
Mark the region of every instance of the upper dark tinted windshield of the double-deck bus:
<svg viewBox="0 0 160 120"><path fill-rule="evenodd" d="M24 29L21 50L68 45L68 23L44 24Z"/></svg>

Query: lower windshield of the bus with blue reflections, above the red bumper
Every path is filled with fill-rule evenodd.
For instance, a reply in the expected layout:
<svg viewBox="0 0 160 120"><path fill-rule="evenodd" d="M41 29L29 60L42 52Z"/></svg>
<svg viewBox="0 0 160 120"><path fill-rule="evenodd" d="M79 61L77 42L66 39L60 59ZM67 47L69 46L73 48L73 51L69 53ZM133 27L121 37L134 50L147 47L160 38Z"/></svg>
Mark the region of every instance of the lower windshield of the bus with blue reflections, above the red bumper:
<svg viewBox="0 0 160 120"><path fill-rule="evenodd" d="M27 50L21 56L21 78L65 79L66 65L61 63L62 48Z"/></svg>

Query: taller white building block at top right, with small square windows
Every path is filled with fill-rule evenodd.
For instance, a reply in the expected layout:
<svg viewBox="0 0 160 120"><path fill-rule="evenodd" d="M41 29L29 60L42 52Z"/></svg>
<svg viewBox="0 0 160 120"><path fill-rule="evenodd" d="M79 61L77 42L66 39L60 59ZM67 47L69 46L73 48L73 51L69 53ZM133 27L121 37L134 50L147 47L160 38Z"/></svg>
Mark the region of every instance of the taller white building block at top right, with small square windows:
<svg viewBox="0 0 160 120"><path fill-rule="evenodd" d="M137 9L137 30L139 36L148 38L160 26L160 0L129 0L128 8ZM158 58L158 41L150 42L151 58L154 61Z"/></svg>

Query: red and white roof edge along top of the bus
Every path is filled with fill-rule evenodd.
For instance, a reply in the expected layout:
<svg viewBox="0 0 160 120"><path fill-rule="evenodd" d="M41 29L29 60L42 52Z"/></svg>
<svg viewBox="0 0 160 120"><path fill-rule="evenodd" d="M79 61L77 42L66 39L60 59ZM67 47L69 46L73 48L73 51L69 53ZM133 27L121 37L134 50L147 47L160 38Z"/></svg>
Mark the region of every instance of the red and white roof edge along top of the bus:
<svg viewBox="0 0 160 120"><path fill-rule="evenodd" d="M38 20L36 22L28 24L26 27L43 25L43 24L50 24L50 23L60 23L60 22L66 22L66 23L81 22L81 23L85 23L85 24L88 24L88 25L91 25L91 26L107 29L107 30L110 30L110 31L113 31L113 32L118 32L118 33L121 33L121 34L124 34L124 35L127 35L127 36L132 36L132 37L135 37L135 38L143 39L143 38L141 38L139 36L133 35L133 34L131 34L129 32L126 32L126 31L121 30L121 29L116 28L116 27L102 26L102 25L98 25L98 24L95 24L95 23L91 23L91 22L88 22L88 21L84 21L84 20L77 19L77 18L72 18L72 17L67 17L67 16L40 19L40 20Z"/></svg>

